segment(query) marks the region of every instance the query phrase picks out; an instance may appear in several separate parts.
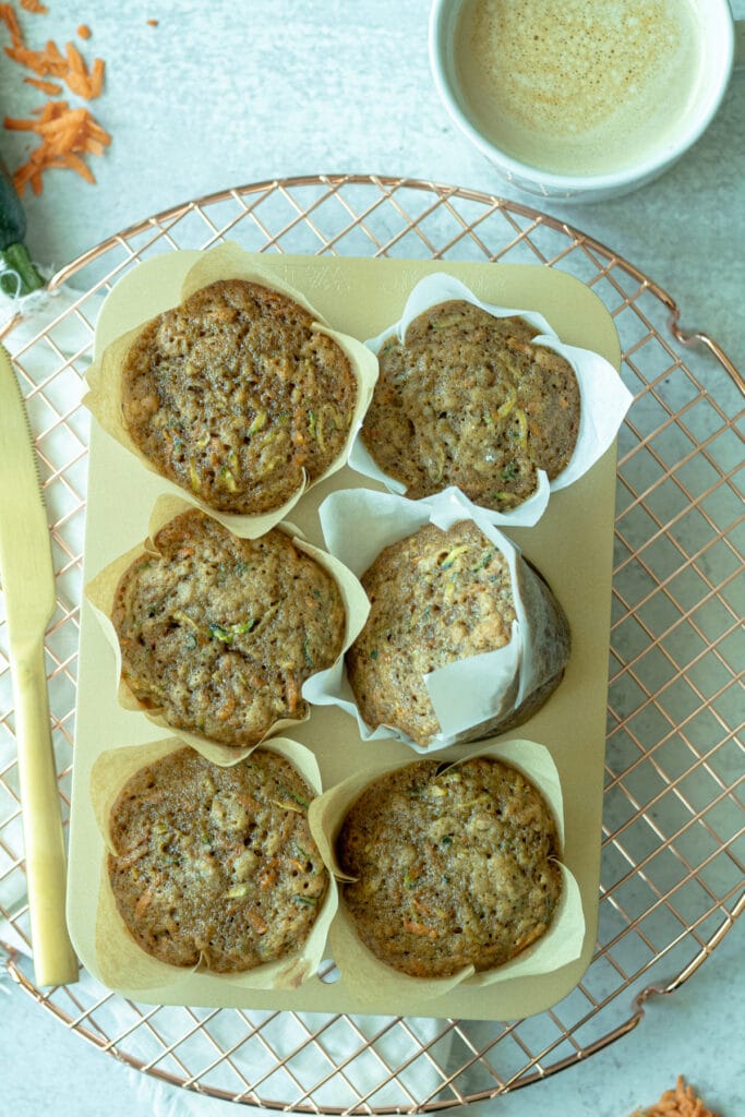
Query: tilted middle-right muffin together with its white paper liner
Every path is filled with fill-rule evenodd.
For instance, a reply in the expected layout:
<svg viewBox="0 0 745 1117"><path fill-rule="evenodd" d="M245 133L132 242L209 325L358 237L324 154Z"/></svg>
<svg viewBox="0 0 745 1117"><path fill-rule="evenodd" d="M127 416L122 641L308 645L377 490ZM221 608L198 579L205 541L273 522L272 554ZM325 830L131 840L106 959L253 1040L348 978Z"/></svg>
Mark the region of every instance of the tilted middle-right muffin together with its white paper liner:
<svg viewBox="0 0 745 1117"><path fill-rule="evenodd" d="M364 741L431 752L483 739L527 720L561 684L571 650L561 604L458 489L419 502L341 490L319 517L371 609L346 671L307 693L355 717Z"/></svg>

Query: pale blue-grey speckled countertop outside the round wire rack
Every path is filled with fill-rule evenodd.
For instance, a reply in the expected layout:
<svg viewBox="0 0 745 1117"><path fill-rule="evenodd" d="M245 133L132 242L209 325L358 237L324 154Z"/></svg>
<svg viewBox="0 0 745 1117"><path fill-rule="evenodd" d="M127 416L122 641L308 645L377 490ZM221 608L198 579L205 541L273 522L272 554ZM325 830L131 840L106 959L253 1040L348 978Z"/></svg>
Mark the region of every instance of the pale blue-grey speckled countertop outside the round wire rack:
<svg viewBox="0 0 745 1117"><path fill-rule="evenodd" d="M85 50L108 67L105 93L90 107L113 144L92 161L95 187L56 172L41 197L28 199L28 245L45 267L187 199L275 176L380 173L507 193L439 103L428 66L428 0L48 7L46 16L23 16L29 38L64 44L79 23L90 26ZM733 8L745 17L745 0ZM155 19L155 27L147 22ZM21 78L3 57L0 102L12 116L38 102ZM744 120L739 73L707 134L662 179L611 202L543 204L646 271L677 300L684 326L709 333L741 366ZM27 142L4 133L6 162L17 165ZM508 197L541 208L528 195ZM743 942L737 928L680 991L653 999L623 1040L468 1111L623 1117L685 1072L723 1115L745 1113ZM50 1106L60 1117L233 1111L156 1086L68 1034L18 989L3 987L0 1114L37 1117Z"/></svg>

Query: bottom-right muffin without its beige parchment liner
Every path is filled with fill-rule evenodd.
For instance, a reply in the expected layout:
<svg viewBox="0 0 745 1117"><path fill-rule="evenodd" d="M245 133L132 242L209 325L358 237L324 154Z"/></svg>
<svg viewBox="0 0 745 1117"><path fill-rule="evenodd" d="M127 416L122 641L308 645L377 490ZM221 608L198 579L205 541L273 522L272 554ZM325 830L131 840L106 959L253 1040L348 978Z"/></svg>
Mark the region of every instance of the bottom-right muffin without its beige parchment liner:
<svg viewBox="0 0 745 1117"><path fill-rule="evenodd" d="M562 890L556 823L533 784L489 757L443 767L375 780L335 843L356 934L413 977L503 965L546 932Z"/></svg>

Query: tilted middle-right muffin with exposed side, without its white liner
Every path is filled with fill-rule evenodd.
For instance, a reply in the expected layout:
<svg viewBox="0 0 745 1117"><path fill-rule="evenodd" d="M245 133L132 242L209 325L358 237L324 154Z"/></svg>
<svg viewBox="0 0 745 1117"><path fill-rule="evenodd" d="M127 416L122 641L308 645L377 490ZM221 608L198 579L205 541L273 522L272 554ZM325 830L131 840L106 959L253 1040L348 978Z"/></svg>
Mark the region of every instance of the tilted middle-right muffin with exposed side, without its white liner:
<svg viewBox="0 0 745 1117"><path fill-rule="evenodd" d="M471 521L447 532L427 524L381 551L361 580L370 599L367 621L346 652L347 678L366 725L392 726L428 745L440 725L424 676L515 639L518 591L539 641L533 655L541 684L515 706L516 677L495 718L461 739L519 725L538 709L563 676L569 624L545 583L522 560L518 569L516 588L507 558Z"/></svg>

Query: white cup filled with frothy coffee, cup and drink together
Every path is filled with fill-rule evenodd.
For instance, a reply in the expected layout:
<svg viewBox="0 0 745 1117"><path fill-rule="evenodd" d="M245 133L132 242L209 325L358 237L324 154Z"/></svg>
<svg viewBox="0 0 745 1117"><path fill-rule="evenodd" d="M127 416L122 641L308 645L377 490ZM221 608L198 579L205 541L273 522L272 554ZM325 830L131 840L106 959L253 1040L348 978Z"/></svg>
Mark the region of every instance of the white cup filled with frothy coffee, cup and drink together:
<svg viewBox="0 0 745 1117"><path fill-rule="evenodd" d="M434 0L430 54L464 131L525 190L610 197L704 131L733 63L726 0Z"/></svg>

